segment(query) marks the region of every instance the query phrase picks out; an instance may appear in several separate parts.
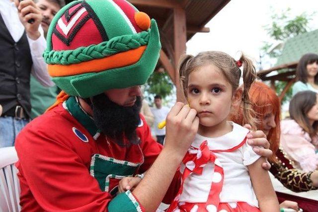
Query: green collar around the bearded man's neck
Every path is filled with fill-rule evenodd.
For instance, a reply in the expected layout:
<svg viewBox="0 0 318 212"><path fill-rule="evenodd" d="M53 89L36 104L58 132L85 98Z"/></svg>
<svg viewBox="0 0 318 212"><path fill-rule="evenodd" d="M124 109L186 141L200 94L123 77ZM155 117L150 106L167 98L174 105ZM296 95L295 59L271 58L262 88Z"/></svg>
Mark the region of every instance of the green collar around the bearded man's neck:
<svg viewBox="0 0 318 212"><path fill-rule="evenodd" d="M97 129L93 118L89 116L79 105L79 99L75 96L70 96L68 100L63 102L63 107L89 132L96 140L100 135L100 130Z"/></svg>

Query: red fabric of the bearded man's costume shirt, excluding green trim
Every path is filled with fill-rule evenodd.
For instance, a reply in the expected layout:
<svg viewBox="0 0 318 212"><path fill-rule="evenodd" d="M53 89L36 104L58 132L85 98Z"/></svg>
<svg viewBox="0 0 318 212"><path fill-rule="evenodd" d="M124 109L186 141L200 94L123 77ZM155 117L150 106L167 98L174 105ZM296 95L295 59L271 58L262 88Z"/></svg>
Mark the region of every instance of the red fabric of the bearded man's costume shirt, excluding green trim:
<svg viewBox="0 0 318 212"><path fill-rule="evenodd" d="M73 127L82 132L88 142L79 140ZM146 124L137 129L137 134L145 157L140 171L144 172L157 158L162 146L151 138ZM138 145L127 148L113 142L108 145L103 135L93 140L61 104L29 123L18 135L15 148L20 159L16 166L22 212L106 211L112 197L102 192L90 176L91 156L99 153L132 162L141 159Z"/></svg>

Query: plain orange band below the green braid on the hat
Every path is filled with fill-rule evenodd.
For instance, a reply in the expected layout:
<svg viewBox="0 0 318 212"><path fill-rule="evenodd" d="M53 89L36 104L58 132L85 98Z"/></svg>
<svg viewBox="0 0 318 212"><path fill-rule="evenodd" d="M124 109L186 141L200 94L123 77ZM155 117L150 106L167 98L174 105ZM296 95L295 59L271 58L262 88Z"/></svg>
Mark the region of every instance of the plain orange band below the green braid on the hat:
<svg viewBox="0 0 318 212"><path fill-rule="evenodd" d="M147 46L121 52L101 59L71 65L48 65L49 74L55 76L73 76L82 73L100 72L132 65L140 60Z"/></svg>

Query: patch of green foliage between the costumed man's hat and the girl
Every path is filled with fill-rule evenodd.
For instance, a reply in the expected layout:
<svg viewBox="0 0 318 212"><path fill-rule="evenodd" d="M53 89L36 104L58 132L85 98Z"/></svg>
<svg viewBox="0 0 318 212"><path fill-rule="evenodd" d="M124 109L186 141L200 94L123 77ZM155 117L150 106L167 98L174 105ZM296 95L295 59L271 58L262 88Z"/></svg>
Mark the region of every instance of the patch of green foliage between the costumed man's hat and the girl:
<svg viewBox="0 0 318 212"><path fill-rule="evenodd" d="M166 72L154 72L147 83L145 84L145 93L148 94L148 99L152 99L155 95L159 94L164 99L172 93L173 82Z"/></svg>

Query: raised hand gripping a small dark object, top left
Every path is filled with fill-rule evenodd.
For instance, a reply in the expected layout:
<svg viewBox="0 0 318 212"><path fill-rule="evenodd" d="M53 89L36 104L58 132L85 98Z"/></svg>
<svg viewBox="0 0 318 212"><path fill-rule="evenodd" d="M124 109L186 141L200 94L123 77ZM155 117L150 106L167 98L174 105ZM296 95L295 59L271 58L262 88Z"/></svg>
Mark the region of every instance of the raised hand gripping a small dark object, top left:
<svg viewBox="0 0 318 212"><path fill-rule="evenodd" d="M25 32L29 38L36 40L40 37L39 25L42 21L41 10L33 0L14 0L18 9L18 14L21 23L25 28ZM34 19L33 23L28 23L28 20Z"/></svg>

